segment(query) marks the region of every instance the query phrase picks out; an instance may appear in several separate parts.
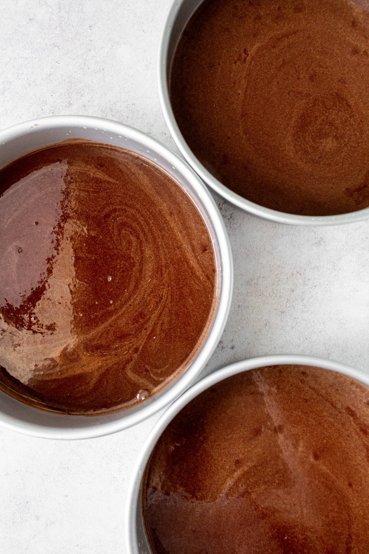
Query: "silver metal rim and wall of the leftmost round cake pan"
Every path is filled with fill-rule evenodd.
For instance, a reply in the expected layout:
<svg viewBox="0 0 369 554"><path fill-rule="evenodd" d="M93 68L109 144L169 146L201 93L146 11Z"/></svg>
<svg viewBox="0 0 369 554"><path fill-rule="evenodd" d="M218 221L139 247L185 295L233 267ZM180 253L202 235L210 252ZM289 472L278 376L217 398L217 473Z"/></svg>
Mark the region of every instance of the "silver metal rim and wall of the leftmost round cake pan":
<svg viewBox="0 0 369 554"><path fill-rule="evenodd" d="M174 152L137 129L98 117L35 119L0 131L0 167L28 152L67 139L85 139L127 148L169 173L193 200L205 220L217 268L214 315L201 345L190 364L152 398L120 412L84 417L46 412L0 391L0 425L3 427L37 437L83 439L115 433L141 422L168 406L199 376L214 352L227 321L232 297L233 261L224 222L204 183Z"/></svg>

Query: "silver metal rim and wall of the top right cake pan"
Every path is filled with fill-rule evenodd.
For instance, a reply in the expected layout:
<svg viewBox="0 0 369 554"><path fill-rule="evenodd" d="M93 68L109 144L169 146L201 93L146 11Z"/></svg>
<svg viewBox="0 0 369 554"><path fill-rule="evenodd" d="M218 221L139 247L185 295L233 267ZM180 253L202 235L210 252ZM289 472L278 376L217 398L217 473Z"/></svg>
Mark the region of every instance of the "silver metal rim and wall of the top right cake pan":
<svg viewBox="0 0 369 554"><path fill-rule="evenodd" d="M190 150L179 127L176 123L173 110L171 109L169 97L170 72L176 47L181 34L183 33L189 19L200 6L202 0L173 0L170 4L167 17L165 18L162 34L160 37L158 54L158 89L160 104L164 113L165 121L169 127L171 136L178 146L181 154L186 161L194 168L196 173L203 181L215 192L220 194L228 202L231 202L238 208L251 213L254 216L269 219L277 223L287 223L291 225L340 225L343 223L354 223L367 219L369 217L369 208L361 209L357 212L340 214L337 216L298 216L295 214L278 212L270 208L264 208L255 204L239 194L231 191L218 179L211 175L209 171L199 162L198 158Z"/></svg>

